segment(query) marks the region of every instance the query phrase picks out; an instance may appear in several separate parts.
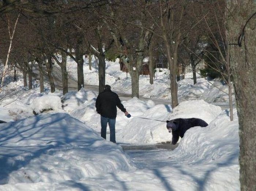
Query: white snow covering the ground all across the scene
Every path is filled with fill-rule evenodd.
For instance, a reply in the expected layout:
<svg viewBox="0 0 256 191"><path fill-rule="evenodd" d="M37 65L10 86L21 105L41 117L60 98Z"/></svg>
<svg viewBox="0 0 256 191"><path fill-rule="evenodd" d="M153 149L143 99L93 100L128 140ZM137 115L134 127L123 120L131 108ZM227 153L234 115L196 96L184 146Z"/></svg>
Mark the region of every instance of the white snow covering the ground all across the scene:
<svg viewBox="0 0 256 191"><path fill-rule="evenodd" d="M84 62L85 82L97 84L94 58L92 70ZM67 65L75 79L76 64L68 59ZM236 108L230 121L229 110L216 104L227 105L227 86L200 77L193 85L186 74L172 109L151 100L170 103L168 81L166 69L157 69L153 85L140 76L142 98L122 101L132 117L118 110L114 144L109 130L107 140L100 136L97 92L82 88L63 96L45 84L40 93L38 81L29 90L22 80L7 80L0 92L0 120L7 121L0 124L0 190L240 190ZM131 78L118 60L106 63L106 83L117 93L131 93ZM209 125L187 130L174 150L141 149L171 141L161 121L191 117Z"/></svg>

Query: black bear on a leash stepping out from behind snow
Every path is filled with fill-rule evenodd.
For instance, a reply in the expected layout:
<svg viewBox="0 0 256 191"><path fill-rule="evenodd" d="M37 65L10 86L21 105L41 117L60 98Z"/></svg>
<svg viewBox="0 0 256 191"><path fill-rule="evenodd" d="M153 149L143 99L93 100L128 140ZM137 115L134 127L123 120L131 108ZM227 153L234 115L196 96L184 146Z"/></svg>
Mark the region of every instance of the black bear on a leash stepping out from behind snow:
<svg viewBox="0 0 256 191"><path fill-rule="evenodd" d="M207 122L205 122L204 120L201 120L199 118L177 118L174 120L170 120L170 121L166 121L167 122L167 129L170 132L172 132L172 144L175 145L178 140L179 137L183 137L184 133L191 127L194 126L202 126L202 127L206 127L208 126Z"/></svg>

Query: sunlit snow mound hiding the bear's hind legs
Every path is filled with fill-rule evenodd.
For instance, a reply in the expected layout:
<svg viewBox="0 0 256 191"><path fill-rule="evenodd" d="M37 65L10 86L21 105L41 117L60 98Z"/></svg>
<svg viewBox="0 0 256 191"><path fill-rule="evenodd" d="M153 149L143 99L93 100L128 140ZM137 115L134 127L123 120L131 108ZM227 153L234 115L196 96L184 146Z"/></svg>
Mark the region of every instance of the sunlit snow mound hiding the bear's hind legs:
<svg viewBox="0 0 256 191"><path fill-rule="evenodd" d="M191 163L196 163L198 160L209 163L222 158L231 158L230 160L234 162L233 160L237 160L239 155L237 122L237 117L230 122L226 111L223 111L207 127L187 130L174 153L177 152L179 157L196 157Z"/></svg>

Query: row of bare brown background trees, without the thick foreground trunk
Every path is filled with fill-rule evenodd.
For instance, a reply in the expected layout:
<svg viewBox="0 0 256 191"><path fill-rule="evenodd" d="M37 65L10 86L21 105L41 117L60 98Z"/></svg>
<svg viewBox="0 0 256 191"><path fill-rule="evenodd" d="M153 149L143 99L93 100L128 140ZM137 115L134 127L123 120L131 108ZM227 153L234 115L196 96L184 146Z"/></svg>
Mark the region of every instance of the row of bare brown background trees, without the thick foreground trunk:
<svg viewBox="0 0 256 191"><path fill-rule="evenodd" d="M5 60L6 52L11 54L8 56L10 60L7 59L5 63L15 64L23 71L24 77L28 73L31 78L31 64L36 61L42 82L42 65L46 65L51 91L54 91L51 69L55 61L61 66L65 94L68 88L64 57L69 55L78 66L79 90L84 85L83 55L91 53L99 60L99 91L102 91L105 85L106 53L112 51L131 75L132 97L139 97L139 74L143 58L150 57L150 83L153 83L154 52L158 51L166 56L169 63L173 108L178 105L178 63L183 63L185 68L187 60L191 60L195 75L195 62L200 60L203 49L204 52L210 52L199 44L206 43L212 36L215 38L218 31L217 24L214 24L216 20L212 17L219 18L224 10L219 7L223 5L222 1L212 3L205 0L90 1L87 4L88 1L61 0L50 3L19 2L20 9L15 11L7 12L18 6L16 4L6 4L5 7L9 8L2 8L7 13L2 13L1 22L5 27L0 32L4 34L7 28L11 28L16 38L12 43L7 39L7 34L2 35L4 39L1 40L5 43L1 47L4 50L1 51L1 58ZM208 27L214 33L212 36L204 20L210 25ZM13 27L14 21L18 23L17 27ZM223 22L220 20L219 23ZM12 46L12 51L6 50L8 46ZM194 81L196 83L196 76Z"/></svg>

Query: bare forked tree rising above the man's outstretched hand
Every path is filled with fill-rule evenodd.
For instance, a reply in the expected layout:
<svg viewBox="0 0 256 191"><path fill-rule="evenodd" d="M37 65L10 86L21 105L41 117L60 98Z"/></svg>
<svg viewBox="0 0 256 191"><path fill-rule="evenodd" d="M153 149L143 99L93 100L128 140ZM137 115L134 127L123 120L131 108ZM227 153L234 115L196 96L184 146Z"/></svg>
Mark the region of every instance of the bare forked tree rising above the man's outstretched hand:
<svg viewBox="0 0 256 191"><path fill-rule="evenodd" d="M146 15L142 10L145 7L147 2L144 1L122 1L118 7L109 6L110 14L103 17L114 39L120 60L131 76L132 97L138 98L139 75L152 37L151 31L143 28Z"/></svg>

